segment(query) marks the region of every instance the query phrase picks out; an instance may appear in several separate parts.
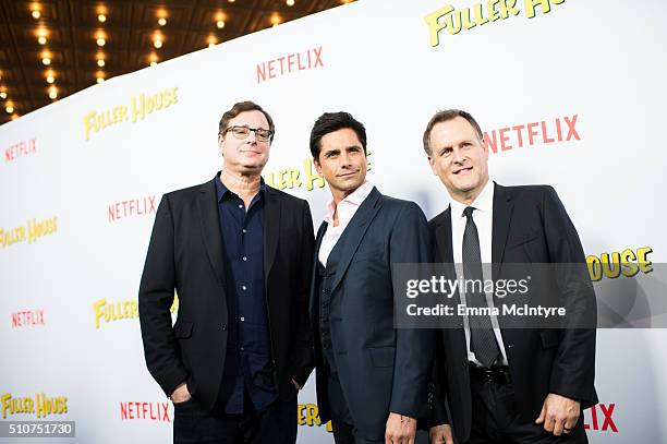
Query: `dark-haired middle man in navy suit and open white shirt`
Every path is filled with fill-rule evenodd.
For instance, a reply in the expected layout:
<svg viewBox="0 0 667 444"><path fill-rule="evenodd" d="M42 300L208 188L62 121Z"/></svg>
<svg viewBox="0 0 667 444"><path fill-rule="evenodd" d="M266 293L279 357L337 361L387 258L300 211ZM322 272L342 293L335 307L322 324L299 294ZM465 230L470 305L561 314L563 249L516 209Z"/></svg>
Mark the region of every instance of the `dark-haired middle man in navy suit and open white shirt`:
<svg viewBox="0 0 667 444"><path fill-rule="evenodd" d="M413 443L432 332L395 328L391 265L430 262L426 218L366 181L366 132L349 113L319 117L311 152L332 194L311 285L319 417L337 444Z"/></svg>

